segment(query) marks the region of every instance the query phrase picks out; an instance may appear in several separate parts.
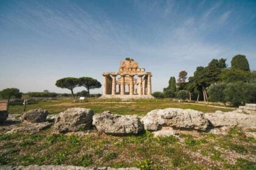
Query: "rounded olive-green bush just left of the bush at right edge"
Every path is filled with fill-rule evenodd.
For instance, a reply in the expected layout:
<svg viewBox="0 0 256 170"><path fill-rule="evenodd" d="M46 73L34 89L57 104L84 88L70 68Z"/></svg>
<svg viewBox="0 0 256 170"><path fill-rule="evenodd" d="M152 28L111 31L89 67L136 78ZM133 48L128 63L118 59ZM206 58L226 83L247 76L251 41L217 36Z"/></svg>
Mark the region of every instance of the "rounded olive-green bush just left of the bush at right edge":
<svg viewBox="0 0 256 170"><path fill-rule="evenodd" d="M226 83L212 84L208 88L209 101L220 101L225 103L224 89L226 87Z"/></svg>

